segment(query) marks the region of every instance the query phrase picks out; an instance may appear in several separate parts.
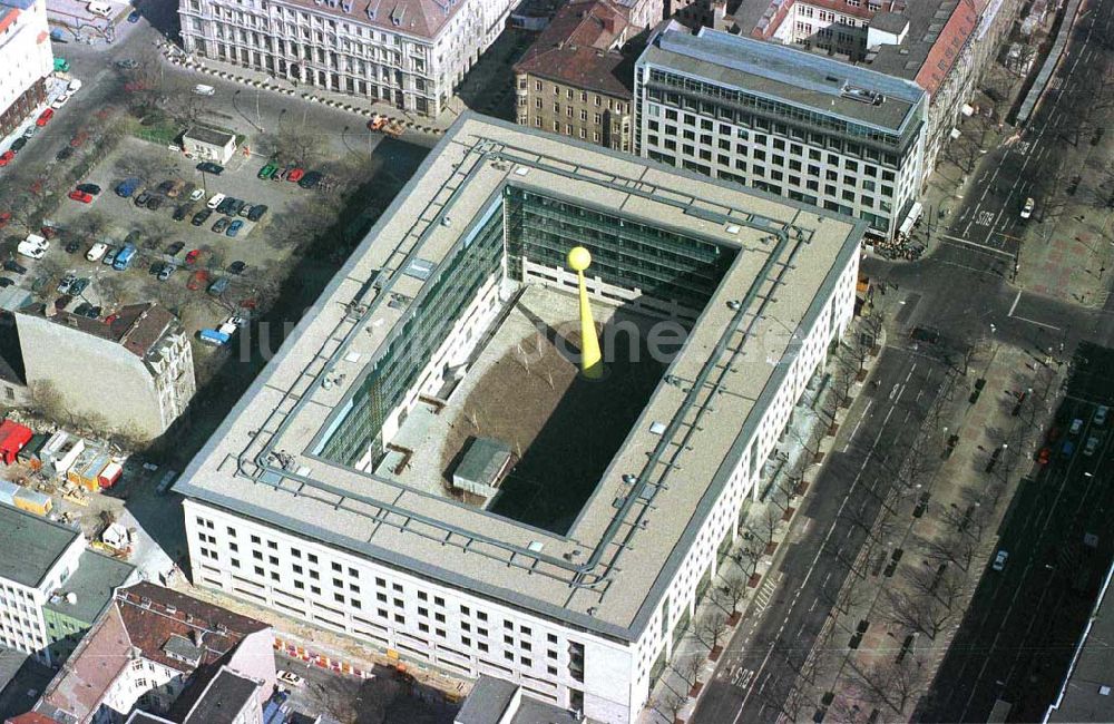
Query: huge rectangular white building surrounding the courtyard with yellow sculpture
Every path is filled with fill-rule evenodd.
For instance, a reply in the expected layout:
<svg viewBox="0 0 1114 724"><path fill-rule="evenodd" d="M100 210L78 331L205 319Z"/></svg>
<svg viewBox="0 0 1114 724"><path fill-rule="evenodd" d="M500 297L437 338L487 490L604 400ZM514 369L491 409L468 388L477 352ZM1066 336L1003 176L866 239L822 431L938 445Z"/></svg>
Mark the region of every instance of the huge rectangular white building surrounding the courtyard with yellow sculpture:
<svg viewBox="0 0 1114 724"><path fill-rule="evenodd" d="M530 636L549 630L553 645L573 629L620 648L658 636L652 623L678 573L710 556L696 542L733 534L731 515L713 513L751 493L743 481L776 438L766 428L784 424L792 407L781 398L795 401L846 326L862 231L803 205L463 116L176 485L188 498L195 580L408 655L424 652L383 635L405 617L371 600L388 576L399 604L404 593L424 610L424 581L441 605L442 594L457 597L455 619L477 609L485 619L515 616ZM522 285L575 288L564 267L573 242L593 254L594 303L688 332L567 527L524 525L377 472L422 398L467 374ZM561 483L559 462L549 474ZM253 575L246 550L255 546L274 555L273 575ZM320 561L334 587L350 584L306 593L305 568L328 570ZM576 659L586 645L561 644L574 679L583 681ZM540 657L522 658L545 671ZM574 708L576 698L555 694ZM625 721L633 704L618 706Z"/></svg>

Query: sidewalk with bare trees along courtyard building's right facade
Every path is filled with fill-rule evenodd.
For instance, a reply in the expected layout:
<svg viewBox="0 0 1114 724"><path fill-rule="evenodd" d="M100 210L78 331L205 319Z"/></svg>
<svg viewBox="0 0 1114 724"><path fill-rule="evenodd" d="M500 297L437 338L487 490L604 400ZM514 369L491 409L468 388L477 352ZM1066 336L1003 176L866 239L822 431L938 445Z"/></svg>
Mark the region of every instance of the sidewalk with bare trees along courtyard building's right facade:
<svg viewBox="0 0 1114 724"><path fill-rule="evenodd" d="M856 327L852 327L848 336L854 333ZM885 344L885 331L880 335L880 344ZM760 499L744 501L739 525L741 535L721 557L716 576L674 645L673 657L652 689L638 718L639 724L687 722L700 703L705 683L715 676L722 650L729 647L744 624L753 626L756 617L764 612L780 580L779 569L789 548L782 544L799 532L794 522L803 507L802 497L808 495L820 474L822 460L842 440L838 433L830 433L842 428L843 420L857 408L858 393L869 381L877 360L877 355L867 358L862 380L852 385L850 398L837 411L833 423L818 411L823 410L827 397L834 393L831 381L824 384L823 376L818 375L809 383L809 390L794 408L790 429L782 438L778 456L766 460L763 467L758 483ZM832 360L829 371L836 364ZM763 542L765 547L761 548ZM756 550L755 545L759 546ZM744 565L747 567L744 568ZM737 614L727 619L724 633L717 637L716 649L713 649L709 632L701 632L701 623L709 620L709 616L729 616L732 613L732 604L725 597L730 597L727 591L733 587L731 578L740 575L746 579L745 593L734 606ZM736 620L732 624L731 618ZM695 672L694 662L698 662Z"/></svg>

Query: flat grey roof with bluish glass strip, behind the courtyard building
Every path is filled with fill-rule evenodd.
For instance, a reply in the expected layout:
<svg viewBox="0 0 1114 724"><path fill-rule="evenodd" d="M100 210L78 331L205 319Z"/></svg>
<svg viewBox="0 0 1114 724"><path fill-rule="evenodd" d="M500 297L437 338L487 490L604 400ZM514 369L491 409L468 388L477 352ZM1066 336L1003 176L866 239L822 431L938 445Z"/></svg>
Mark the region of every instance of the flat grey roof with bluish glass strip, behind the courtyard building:
<svg viewBox="0 0 1114 724"><path fill-rule="evenodd" d="M893 135L915 126L925 97L921 88L901 78L711 28L696 36L681 30L662 32L638 63L705 78ZM856 100L848 89L871 91L885 100L879 105Z"/></svg>

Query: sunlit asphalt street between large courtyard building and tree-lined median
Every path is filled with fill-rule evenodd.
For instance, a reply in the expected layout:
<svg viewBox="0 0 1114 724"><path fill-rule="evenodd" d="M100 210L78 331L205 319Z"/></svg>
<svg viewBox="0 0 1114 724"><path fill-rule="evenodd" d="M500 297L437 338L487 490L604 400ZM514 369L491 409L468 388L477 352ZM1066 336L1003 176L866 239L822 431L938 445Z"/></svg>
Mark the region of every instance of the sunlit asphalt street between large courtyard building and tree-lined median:
<svg viewBox="0 0 1114 724"><path fill-rule="evenodd" d="M846 444L830 453L798 518L776 574L776 586L758 596L754 625L743 625L726 647L695 722L773 722L824 627L850 566L901 467L912 439L944 385L945 365L934 355L886 348L868 385L864 410ZM802 522L803 520L803 522ZM773 579L771 579L773 580ZM756 614L756 616L754 616ZM834 640L850 638L837 633ZM842 645L842 644L841 644ZM811 716L811 712L808 712Z"/></svg>

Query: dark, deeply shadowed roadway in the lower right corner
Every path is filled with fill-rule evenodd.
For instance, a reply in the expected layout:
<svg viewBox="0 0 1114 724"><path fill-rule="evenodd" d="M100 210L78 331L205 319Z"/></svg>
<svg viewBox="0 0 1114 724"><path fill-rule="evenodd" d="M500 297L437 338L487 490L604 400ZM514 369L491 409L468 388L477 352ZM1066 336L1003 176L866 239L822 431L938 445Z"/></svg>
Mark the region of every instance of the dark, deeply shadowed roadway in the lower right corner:
<svg viewBox="0 0 1114 724"><path fill-rule="evenodd" d="M1091 354L1081 366L1108 372L1114 354ZM999 531L1006 568L980 581L917 721L985 722L1000 698L1014 704L1009 721L1033 722L1055 698L1114 551L1114 434L1095 415L1114 399L1114 381L1087 376L1068 385L1045 437L1049 462L1023 481Z"/></svg>

